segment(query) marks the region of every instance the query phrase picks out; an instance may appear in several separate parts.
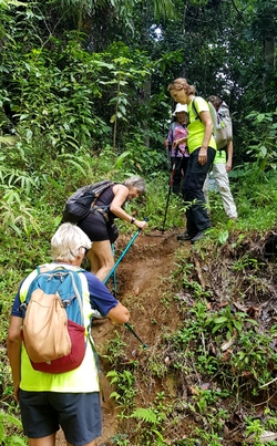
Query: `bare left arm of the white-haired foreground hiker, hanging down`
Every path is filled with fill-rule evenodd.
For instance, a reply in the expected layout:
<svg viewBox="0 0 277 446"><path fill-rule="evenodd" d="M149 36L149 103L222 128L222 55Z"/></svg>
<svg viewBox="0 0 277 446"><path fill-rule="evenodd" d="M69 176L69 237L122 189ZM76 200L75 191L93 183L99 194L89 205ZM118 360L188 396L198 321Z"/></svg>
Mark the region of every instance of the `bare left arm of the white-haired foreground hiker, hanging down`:
<svg viewBox="0 0 277 446"><path fill-rule="evenodd" d="M20 374L21 344L22 344L22 340L20 336L21 325L22 325L22 319L12 315L7 336L7 352L12 373L13 394L17 402L19 402L19 384L21 378Z"/></svg>

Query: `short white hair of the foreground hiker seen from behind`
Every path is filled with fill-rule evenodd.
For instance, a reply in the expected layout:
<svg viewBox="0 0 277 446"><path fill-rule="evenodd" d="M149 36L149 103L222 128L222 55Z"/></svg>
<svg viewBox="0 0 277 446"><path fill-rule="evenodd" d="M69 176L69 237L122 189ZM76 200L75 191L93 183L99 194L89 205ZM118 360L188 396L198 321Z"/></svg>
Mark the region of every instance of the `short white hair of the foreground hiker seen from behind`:
<svg viewBox="0 0 277 446"><path fill-rule="evenodd" d="M51 257L54 261L74 261L79 249L91 249L91 240L82 229L70 222L59 227L51 239Z"/></svg>

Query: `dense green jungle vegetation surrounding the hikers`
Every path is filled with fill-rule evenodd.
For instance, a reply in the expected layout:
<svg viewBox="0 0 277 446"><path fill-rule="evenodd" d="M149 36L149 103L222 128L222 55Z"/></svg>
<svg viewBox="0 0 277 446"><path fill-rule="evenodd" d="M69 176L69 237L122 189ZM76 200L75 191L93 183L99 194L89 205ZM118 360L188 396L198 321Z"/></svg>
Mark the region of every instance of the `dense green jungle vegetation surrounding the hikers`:
<svg viewBox="0 0 277 446"><path fill-rule="evenodd" d="M4 348L11 302L22 278L49 256L49 240L69 194L104 177L141 175L148 187L145 215L152 227L161 227L168 190L163 141L174 110L167 93L172 80L184 76L198 95L219 95L229 106L235 147L229 177L239 209L238 237L276 232L276 0L0 0L0 443L25 444L18 432ZM211 237L224 246L234 228L216 196L213 205ZM168 228L183 227L181 208L173 197ZM124 225L121 229L127 230ZM254 267L258 260L249 262ZM181 266L186 287L191 270ZM194 292L203 298L198 289ZM236 325L227 310L213 321L204 313L197 303L189 335L199 326L204 331L204 322L214 333L224 325L229 338L234 328L243 334L242 315ZM276 322L270 330L270 340L264 340L269 344L276 339ZM177 332L172 343L177 345L185 335ZM256 361L261 371L261 357ZM211 371L215 369L211 363ZM264 383L274 378L274 371L276 366ZM120 373L113 372L114 382L122 380ZM226 387L232 393L237 387L230 381ZM216 393L199 391L199 414L212 397L214 402ZM162 400L157 395L153 411L133 412L153 433L145 443L137 437L137 444L168 444L156 434L167 416ZM223 444L219 418L208 421L209 436L204 431L198 435L202 445ZM270 419L267 431L276 432L276 413ZM247 423L253 444L259 445L260 423ZM130 445L125 437L114 442ZM198 443L192 438L175 444Z"/></svg>

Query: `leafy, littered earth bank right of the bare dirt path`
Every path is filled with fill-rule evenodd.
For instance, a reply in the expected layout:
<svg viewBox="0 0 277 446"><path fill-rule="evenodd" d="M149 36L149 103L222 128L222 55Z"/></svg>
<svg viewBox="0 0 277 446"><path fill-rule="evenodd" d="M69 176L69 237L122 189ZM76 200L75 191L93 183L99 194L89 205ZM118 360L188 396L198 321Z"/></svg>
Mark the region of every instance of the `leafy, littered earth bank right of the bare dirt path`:
<svg viewBox="0 0 277 446"><path fill-rule="evenodd" d="M124 349L117 349L115 340L109 342L112 371L107 376L117 384L111 397L120 408L122 429L112 444L258 446L270 436L271 444L277 444L273 442L276 404L270 404L276 392L277 324L266 323L268 289L255 303L247 294L249 280L259 283L276 274L276 262L266 258L255 261L252 255L237 268L237 260L232 256L229 261L222 252L229 269L236 271L236 277L224 277L235 283L234 292L223 300L217 289L217 249L211 239L201 256L206 287L201 286L195 268L201 247L189 252L179 248L176 252L171 277L171 307L175 307L178 317L176 330L160 324L156 344L134 362L126 362ZM240 252L240 258L244 256ZM165 293L161 308L168 301L168 289ZM271 289L271 298L276 299L276 290ZM151 387L156 388L154 396Z"/></svg>

